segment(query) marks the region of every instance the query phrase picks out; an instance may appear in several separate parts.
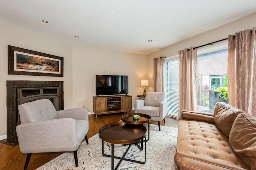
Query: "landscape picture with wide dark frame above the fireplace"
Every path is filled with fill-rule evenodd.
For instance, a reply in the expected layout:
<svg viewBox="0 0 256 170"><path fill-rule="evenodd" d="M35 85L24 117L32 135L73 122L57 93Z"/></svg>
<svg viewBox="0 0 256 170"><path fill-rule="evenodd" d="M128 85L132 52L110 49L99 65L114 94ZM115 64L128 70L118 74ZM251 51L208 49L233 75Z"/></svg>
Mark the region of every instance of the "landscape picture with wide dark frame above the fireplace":
<svg viewBox="0 0 256 170"><path fill-rule="evenodd" d="M8 45L8 74L63 77L63 57Z"/></svg>

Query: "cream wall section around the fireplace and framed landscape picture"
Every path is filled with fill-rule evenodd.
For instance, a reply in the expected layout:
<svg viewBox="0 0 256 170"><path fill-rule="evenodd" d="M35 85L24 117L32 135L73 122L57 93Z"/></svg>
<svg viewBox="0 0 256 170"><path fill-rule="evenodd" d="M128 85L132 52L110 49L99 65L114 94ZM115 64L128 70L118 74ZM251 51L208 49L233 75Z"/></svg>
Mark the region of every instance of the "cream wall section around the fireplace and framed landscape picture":
<svg viewBox="0 0 256 170"><path fill-rule="evenodd" d="M8 75L8 45L64 57L64 77ZM64 107L72 107L72 47L0 21L0 139L6 135L6 80L64 81Z"/></svg>

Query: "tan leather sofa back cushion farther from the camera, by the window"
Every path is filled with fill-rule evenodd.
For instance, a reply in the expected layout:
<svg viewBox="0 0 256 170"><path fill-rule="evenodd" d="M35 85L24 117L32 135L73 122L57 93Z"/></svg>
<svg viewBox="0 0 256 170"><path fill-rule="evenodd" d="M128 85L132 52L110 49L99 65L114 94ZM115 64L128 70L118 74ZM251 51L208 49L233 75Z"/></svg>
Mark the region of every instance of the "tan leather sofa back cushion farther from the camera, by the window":
<svg viewBox="0 0 256 170"><path fill-rule="evenodd" d="M214 107L214 123L226 137L229 137L233 122L240 113L245 112L224 102L218 102Z"/></svg>

